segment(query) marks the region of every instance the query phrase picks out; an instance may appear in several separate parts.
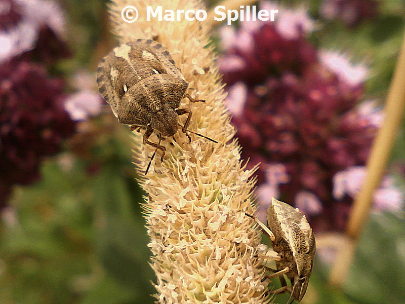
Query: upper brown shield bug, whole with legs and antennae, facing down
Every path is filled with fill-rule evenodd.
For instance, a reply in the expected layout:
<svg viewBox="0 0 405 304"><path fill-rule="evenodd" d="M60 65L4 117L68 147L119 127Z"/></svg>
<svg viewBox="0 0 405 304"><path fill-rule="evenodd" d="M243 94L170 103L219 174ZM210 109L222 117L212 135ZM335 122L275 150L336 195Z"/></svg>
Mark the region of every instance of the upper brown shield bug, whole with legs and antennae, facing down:
<svg viewBox="0 0 405 304"><path fill-rule="evenodd" d="M145 128L143 143L155 147L145 171L161 150L164 160L166 147L160 140L173 137L179 127L191 141L188 132L215 140L188 130L192 112L180 107L187 97L191 102L203 101L187 94L188 83L177 68L170 53L153 40L138 39L121 44L104 57L97 69L97 83L100 93L110 104L114 115L131 130ZM178 123L180 115L187 114L184 125ZM157 133L159 143L149 140Z"/></svg>

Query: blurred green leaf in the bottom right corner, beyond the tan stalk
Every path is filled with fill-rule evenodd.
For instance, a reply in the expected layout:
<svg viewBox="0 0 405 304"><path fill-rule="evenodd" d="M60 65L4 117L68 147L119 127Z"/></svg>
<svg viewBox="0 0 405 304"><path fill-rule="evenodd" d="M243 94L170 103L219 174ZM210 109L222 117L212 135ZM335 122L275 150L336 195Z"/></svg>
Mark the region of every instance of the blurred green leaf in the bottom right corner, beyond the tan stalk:
<svg viewBox="0 0 405 304"><path fill-rule="evenodd" d="M405 302L405 213L373 214L357 246L345 291L358 303Z"/></svg>

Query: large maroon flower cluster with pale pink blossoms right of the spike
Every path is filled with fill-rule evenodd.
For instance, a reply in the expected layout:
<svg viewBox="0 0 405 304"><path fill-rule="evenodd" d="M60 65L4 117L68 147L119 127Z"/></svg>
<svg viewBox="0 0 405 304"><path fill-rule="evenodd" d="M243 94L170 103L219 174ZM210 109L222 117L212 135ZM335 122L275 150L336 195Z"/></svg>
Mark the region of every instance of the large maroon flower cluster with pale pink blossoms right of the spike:
<svg viewBox="0 0 405 304"><path fill-rule="evenodd" d="M262 210L280 197L316 230L343 230L352 197L333 196L334 176L365 165L381 113L358 106L365 68L311 45L304 11L279 12L276 22L222 30L227 106L242 156L250 167L261 163Z"/></svg>

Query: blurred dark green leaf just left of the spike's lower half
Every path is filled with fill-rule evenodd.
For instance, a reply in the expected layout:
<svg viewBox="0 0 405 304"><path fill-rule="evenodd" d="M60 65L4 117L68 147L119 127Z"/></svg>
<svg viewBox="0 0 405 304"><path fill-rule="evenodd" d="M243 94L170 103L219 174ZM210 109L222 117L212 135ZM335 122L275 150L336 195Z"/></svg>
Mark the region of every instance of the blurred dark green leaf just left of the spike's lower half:
<svg viewBox="0 0 405 304"><path fill-rule="evenodd" d="M149 266L149 238L139 202L142 192L135 181L104 170L96 181L97 202L100 207L96 236L98 255L116 282L132 287L140 294L155 292L150 280L154 278ZM133 192L133 193L131 193ZM143 303L153 302L149 296Z"/></svg>

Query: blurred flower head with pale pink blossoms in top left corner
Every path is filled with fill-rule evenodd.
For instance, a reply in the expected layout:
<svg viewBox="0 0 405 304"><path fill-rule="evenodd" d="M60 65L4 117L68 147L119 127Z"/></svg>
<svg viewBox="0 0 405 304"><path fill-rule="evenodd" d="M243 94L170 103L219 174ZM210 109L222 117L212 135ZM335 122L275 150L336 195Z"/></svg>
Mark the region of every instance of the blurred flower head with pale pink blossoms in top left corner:
<svg viewBox="0 0 405 304"><path fill-rule="evenodd" d="M0 1L0 63L24 56L49 64L69 55L64 15L56 2Z"/></svg>

